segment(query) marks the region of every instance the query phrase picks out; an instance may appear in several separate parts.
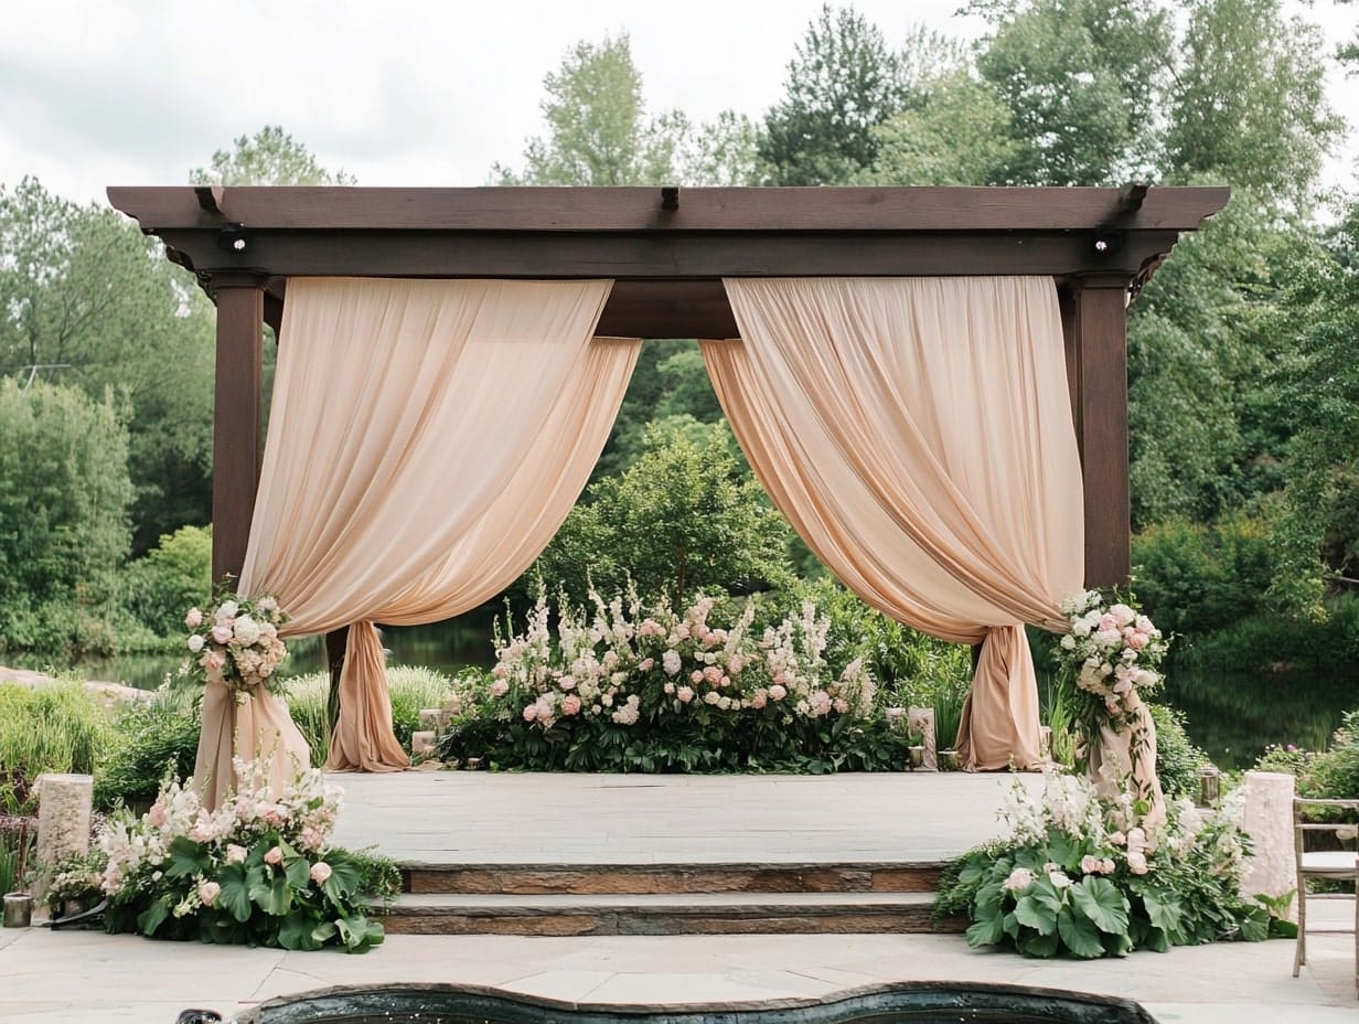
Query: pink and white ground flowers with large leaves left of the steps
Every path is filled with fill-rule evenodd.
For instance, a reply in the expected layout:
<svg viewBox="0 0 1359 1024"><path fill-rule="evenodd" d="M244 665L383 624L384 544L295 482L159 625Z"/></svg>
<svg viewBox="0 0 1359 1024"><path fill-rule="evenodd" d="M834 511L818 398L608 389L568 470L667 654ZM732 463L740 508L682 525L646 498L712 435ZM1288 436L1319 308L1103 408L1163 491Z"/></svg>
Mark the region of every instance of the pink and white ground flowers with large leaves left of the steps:
<svg viewBox="0 0 1359 1024"><path fill-rule="evenodd" d="M101 835L107 930L284 949L379 944L361 858L326 842L340 790L311 768L275 793L258 766L234 767L246 782L216 812L170 782L147 815Z"/></svg>

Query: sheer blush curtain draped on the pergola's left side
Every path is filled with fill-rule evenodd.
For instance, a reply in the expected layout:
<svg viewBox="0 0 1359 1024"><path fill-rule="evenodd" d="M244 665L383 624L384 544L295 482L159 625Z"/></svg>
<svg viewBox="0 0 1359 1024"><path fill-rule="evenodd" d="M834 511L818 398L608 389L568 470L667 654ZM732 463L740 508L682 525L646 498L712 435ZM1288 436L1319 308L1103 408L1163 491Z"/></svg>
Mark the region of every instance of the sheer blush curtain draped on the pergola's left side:
<svg viewBox="0 0 1359 1024"><path fill-rule="evenodd" d="M288 283L241 590L277 597L288 635L351 626L328 767L408 764L374 623L438 621L493 597L584 488L639 348L593 339L610 287ZM220 764L238 729L238 748L261 744L219 703L204 704L200 762ZM285 738L292 726L266 725Z"/></svg>

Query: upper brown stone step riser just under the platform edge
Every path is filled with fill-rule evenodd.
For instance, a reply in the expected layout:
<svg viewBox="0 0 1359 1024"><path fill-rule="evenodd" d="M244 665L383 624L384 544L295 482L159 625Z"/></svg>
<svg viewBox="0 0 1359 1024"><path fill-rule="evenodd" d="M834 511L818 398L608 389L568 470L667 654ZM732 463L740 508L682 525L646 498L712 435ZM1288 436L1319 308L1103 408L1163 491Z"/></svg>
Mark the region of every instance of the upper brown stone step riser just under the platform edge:
<svg viewBox="0 0 1359 1024"><path fill-rule="evenodd" d="M414 864L412 893L666 895L715 892L934 892L942 865L872 864Z"/></svg>

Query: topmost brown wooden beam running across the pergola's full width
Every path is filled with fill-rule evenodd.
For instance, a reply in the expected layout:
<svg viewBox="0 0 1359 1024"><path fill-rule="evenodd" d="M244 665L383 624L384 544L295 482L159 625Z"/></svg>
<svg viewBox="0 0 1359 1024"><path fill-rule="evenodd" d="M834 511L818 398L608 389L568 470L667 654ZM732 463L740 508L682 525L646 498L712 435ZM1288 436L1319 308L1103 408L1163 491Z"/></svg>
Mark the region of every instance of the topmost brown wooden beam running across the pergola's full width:
<svg viewBox="0 0 1359 1024"><path fill-rule="evenodd" d="M1152 188L1127 207L1117 188L686 188L666 211L656 188L227 188L220 215L192 186L111 186L143 230L204 227L353 231L1078 231L1193 230L1226 188ZM1121 215L1121 216L1120 216Z"/></svg>

